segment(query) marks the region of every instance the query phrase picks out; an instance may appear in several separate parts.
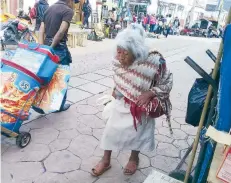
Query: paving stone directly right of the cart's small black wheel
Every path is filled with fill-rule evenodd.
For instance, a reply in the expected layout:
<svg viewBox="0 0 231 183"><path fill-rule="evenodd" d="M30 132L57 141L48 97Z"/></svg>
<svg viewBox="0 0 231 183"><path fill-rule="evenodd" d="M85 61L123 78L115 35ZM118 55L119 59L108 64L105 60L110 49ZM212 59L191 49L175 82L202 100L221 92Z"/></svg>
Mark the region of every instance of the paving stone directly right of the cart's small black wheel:
<svg viewBox="0 0 231 183"><path fill-rule="evenodd" d="M57 139L59 132L53 128L43 128L31 130L32 142L49 144Z"/></svg>

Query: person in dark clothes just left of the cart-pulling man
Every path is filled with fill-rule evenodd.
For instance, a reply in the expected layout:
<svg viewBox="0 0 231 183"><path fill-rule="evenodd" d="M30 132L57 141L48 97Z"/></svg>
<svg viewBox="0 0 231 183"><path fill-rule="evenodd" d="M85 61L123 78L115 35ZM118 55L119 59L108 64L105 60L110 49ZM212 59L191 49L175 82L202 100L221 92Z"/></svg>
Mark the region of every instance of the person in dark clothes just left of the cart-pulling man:
<svg viewBox="0 0 231 183"><path fill-rule="evenodd" d="M35 18L35 32L39 31L45 11L49 8L47 0L39 0L35 4L36 18Z"/></svg>

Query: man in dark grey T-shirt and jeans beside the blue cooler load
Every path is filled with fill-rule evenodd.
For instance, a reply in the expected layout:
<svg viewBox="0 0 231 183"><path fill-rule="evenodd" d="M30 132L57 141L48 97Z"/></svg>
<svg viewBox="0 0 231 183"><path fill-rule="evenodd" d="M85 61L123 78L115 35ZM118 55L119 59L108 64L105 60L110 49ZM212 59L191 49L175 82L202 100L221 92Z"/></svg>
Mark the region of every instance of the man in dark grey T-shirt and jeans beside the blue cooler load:
<svg viewBox="0 0 231 183"><path fill-rule="evenodd" d="M44 14L39 30L39 43L51 46L59 56L61 65L70 65L72 62L67 48L67 32L74 15L71 9L72 2L73 0L59 0L50 6ZM67 93L57 112L65 111L70 107L70 104L65 103L66 97Z"/></svg>

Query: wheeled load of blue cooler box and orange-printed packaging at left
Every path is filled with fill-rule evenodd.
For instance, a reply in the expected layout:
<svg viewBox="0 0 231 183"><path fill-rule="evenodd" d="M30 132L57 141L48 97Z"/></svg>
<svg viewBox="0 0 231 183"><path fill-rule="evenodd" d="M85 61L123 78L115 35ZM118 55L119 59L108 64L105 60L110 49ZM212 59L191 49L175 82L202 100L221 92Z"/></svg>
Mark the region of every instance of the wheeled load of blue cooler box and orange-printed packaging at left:
<svg viewBox="0 0 231 183"><path fill-rule="evenodd" d="M51 81L59 57L50 47L36 43L19 43L14 54L7 54L1 59L0 72L1 133L17 137L17 145L25 147L31 136L19 133L19 128L28 119L41 86Z"/></svg>

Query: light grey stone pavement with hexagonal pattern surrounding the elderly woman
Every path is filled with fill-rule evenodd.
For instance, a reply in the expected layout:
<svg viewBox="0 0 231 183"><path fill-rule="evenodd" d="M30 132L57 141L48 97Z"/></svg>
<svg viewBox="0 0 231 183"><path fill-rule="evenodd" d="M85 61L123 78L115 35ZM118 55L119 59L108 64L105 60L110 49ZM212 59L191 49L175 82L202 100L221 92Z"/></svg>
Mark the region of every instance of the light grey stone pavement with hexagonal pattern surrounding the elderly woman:
<svg viewBox="0 0 231 183"><path fill-rule="evenodd" d="M73 64L68 91L71 108L62 113L39 116L33 113L22 131L30 131L31 143L24 149L15 146L15 139L2 137L2 182L4 183L141 183L152 169L168 173L177 166L193 142L196 128L186 125L187 95L198 75L183 59L191 56L206 71L213 62L205 50L216 51L219 40L169 37L150 39L174 75L171 93L172 127L170 135L164 117L157 119L154 152L141 152L139 170L124 176L122 168L129 152L114 152L112 168L99 178L90 175L103 151L99 141L105 127L101 118L103 106L96 99L113 86L111 58L113 40L88 42L85 48L71 49ZM216 53L216 52L215 52ZM185 169L187 162L183 165Z"/></svg>

